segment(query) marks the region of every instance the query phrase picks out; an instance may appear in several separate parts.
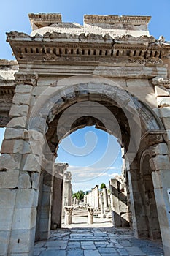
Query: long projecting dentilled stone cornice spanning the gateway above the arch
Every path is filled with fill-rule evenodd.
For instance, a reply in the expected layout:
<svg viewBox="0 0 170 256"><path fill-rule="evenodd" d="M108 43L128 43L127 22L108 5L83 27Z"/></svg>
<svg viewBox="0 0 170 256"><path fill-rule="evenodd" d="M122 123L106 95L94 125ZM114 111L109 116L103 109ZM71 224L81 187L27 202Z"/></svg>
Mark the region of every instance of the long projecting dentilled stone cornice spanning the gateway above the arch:
<svg viewBox="0 0 170 256"><path fill-rule="evenodd" d="M130 62L139 64L161 64L161 58L170 53L170 44L154 37L132 37L123 35L112 38L108 34L36 34L34 37L25 33L11 31L7 33L18 63L20 61L94 61L94 57L131 58ZM134 59L134 61L132 61ZM109 60L110 61L110 60Z"/></svg>

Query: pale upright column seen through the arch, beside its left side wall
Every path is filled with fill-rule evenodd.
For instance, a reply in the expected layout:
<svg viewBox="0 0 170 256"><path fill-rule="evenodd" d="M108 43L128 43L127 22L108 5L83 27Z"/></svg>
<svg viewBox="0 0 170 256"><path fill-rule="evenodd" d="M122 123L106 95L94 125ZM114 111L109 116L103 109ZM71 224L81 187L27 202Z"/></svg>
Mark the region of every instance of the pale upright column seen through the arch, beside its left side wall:
<svg viewBox="0 0 170 256"><path fill-rule="evenodd" d="M63 173L63 207L71 206L72 204L72 173L64 172Z"/></svg>

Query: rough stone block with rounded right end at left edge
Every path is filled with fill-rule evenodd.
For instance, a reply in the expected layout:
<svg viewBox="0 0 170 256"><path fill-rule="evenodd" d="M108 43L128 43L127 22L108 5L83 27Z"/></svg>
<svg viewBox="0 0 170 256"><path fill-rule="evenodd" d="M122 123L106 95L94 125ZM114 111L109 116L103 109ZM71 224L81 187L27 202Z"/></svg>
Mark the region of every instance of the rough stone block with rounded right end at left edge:
<svg viewBox="0 0 170 256"><path fill-rule="evenodd" d="M1 154L0 156L0 170L15 170L18 169L18 162L9 154Z"/></svg>

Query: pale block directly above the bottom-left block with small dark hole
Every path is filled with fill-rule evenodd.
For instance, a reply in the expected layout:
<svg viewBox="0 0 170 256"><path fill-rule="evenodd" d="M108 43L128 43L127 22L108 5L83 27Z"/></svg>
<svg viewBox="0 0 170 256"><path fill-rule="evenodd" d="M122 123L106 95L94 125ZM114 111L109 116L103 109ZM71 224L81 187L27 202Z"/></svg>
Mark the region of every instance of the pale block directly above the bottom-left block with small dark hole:
<svg viewBox="0 0 170 256"><path fill-rule="evenodd" d="M15 208L12 230L29 230L36 226L36 208Z"/></svg>

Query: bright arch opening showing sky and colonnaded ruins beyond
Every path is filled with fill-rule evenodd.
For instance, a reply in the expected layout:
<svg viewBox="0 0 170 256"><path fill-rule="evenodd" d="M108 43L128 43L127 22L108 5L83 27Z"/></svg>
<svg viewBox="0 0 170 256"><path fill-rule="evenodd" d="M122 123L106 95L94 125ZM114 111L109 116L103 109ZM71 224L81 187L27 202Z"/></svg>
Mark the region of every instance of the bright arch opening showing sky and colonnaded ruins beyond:
<svg viewBox="0 0 170 256"><path fill-rule="evenodd" d="M61 140L57 156L55 162L69 164L65 172L67 180L63 179L62 216L64 206L72 206L72 224L75 227L85 227L88 224L87 208L92 207L93 222L97 226L112 225L109 180L116 176L120 178L123 167L121 147L117 138L96 129L95 126L87 126L77 129ZM104 208L106 198L103 199L102 187L106 187L107 191L107 209Z"/></svg>

